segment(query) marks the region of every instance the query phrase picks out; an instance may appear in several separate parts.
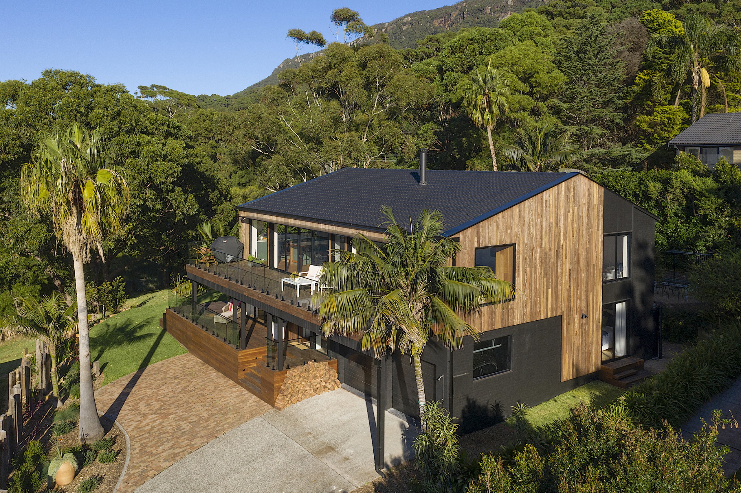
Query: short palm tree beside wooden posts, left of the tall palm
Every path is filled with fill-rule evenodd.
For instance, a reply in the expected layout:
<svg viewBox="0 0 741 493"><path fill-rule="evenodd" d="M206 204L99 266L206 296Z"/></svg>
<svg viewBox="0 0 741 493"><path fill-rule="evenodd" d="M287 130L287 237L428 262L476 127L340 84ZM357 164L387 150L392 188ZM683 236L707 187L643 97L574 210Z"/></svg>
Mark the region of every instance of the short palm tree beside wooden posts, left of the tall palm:
<svg viewBox="0 0 741 493"><path fill-rule="evenodd" d="M49 348L51 355L51 388L52 394L59 401L59 375L56 372L56 348L73 337L77 331L75 321L76 306L68 305L64 297L57 292L41 298L41 302L33 296L19 296L14 298L15 317L5 318L3 330L15 334L33 335L40 339Z"/></svg>

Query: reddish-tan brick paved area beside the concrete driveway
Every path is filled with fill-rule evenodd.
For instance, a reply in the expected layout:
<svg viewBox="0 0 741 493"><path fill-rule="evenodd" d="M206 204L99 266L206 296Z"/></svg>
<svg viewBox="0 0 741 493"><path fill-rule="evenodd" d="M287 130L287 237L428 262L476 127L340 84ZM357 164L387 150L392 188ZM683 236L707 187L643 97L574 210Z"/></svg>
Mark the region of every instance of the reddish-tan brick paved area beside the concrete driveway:
<svg viewBox="0 0 741 493"><path fill-rule="evenodd" d="M122 424L131 455L119 493L132 493L216 437L272 409L193 355L175 356L96 392Z"/></svg>

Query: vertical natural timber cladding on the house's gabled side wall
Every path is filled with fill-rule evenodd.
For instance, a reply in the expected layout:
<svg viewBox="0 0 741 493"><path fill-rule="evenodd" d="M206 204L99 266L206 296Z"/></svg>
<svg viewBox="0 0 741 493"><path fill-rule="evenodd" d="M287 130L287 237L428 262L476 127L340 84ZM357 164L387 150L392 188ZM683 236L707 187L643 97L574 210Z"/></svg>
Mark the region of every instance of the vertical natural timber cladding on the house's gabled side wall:
<svg viewBox="0 0 741 493"><path fill-rule="evenodd" d="M599 370L603 194L576 175L459 234L459 266L475 264L476 247L516 244L515 300L469 322L493 330L562 315L561 381Z"/></svg>

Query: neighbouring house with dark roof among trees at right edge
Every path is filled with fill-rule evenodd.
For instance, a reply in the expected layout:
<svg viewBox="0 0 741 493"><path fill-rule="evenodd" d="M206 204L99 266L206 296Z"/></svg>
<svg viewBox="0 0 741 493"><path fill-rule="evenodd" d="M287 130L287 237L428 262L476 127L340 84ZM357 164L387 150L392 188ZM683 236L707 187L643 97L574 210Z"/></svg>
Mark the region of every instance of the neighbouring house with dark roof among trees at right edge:
<svg viewBox="0 0 741 493"><path fill-rule="evenodd" d="M689 152L702 164L715 167L720 158L741 166L741 113L710 113L669 141L679 152Z"/></svg>

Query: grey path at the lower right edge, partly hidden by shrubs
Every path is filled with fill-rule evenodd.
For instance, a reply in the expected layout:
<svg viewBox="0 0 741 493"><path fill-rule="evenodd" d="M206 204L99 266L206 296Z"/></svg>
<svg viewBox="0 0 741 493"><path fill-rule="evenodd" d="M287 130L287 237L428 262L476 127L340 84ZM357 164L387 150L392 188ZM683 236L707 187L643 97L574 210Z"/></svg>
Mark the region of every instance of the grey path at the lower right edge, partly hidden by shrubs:
<svg viewBox="0 0 741 493"><path fill-rule="evenodd" d="M741 420L741 378L736 380L725 392L721 392L705 403L697 412L697 415L688 420L685 426L682 426L682 435L686 440L689 440L694 432L702 428L701 417L706 422L711 423L711 416L715 409L720 409L723 417L734 417ZM723 466L725 475L731 476L741 467L741 429L729 428L728 426L721 429L718 434L718 443L731 449L731 452L725 456L725 465Z"/></svg>

